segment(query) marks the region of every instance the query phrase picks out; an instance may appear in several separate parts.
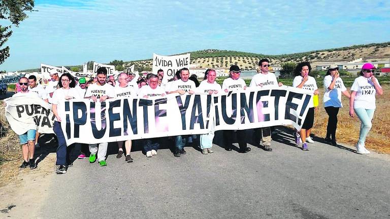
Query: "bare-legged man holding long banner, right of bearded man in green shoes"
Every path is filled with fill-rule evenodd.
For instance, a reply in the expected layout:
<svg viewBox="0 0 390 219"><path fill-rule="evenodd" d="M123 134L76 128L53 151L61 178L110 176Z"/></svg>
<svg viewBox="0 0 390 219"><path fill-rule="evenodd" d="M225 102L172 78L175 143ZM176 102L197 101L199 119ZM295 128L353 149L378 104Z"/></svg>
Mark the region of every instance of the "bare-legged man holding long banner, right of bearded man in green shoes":
<svg viewBox="0 0 390 219"><path fill-rule="evenodd" d="M121 73L118 75L118 84L115 86L115 97L130 97L130 98L137 98L137 90L134 88L134 86L129 85L130 83L127 81L127 75L126 73ZM118 141L118 154L116 155L116 158L121 158L123 156L123 141ZM133 162L132 156L130 156L130 152L132 150L132 140L126 140L124 142L124 148L126 149L126 157L125 161L127 163Z"/></svg>

